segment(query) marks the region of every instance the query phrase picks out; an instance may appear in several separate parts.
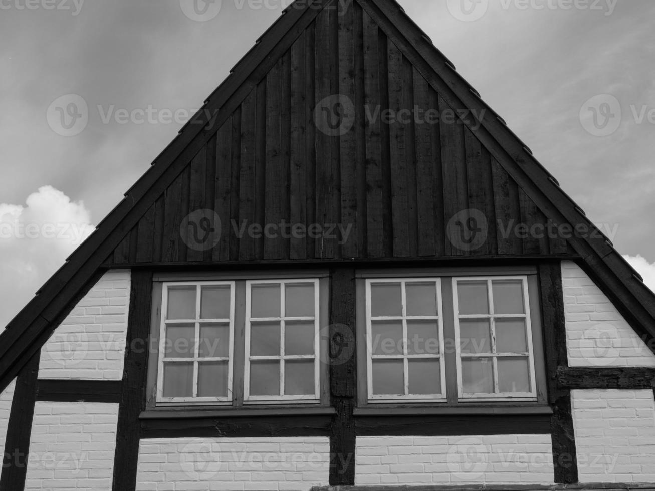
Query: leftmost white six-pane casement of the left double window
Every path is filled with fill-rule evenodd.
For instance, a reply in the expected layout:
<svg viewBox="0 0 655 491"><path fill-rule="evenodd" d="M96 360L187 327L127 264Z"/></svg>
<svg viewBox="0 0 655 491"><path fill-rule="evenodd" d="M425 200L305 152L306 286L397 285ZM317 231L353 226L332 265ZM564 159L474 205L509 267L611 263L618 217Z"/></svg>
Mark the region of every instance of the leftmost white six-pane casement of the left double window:
<svg viewBox="0 0 655 491"><path fill-rule="evenodd" d="M234 282L165 282L158 403L232 400Z"/></svg>

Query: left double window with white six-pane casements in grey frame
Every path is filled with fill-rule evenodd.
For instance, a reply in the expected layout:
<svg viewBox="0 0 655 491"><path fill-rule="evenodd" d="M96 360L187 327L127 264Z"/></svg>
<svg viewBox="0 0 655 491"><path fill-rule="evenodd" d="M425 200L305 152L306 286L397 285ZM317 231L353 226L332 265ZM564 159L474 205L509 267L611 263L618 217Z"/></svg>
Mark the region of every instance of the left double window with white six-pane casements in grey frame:
<svg viewBox="0 0 655 491"><path fill-rule="evenodd" d="M147 407L328 405L327 272L291 274L155 275Z"/></svg>

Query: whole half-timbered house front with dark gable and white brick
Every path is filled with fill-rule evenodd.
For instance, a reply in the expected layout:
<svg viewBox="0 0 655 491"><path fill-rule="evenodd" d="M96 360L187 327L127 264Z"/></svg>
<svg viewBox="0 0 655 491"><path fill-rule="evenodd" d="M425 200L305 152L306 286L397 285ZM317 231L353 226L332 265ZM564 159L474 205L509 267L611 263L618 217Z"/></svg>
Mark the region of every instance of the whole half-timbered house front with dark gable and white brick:
<svg viewBox="0 0 655 491"><path fill-rule="evenodd" d="M654 336L400 5L298 0L0 335L0 489L648 487Z"/></svg>

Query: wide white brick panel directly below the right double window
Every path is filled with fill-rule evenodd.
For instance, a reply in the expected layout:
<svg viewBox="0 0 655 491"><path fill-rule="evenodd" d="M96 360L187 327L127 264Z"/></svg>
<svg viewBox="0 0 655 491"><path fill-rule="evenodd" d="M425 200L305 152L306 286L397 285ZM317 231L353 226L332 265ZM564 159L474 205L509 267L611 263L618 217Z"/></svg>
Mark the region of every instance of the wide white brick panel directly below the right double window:
<svg viewBox="0 0 655 491"><path fill-rule="evenodd" d="M358 437L355 484L552 484L550 435Z"/></svg>

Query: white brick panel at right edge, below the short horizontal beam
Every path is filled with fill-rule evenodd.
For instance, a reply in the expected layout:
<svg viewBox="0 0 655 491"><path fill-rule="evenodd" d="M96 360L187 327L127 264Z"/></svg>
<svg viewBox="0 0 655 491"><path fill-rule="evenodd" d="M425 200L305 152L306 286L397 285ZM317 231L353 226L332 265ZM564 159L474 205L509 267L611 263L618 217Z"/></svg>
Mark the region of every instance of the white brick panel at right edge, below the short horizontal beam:
<svg viewBox="0 0 655 491"><path fill-rule="evenodd" d="M572 390L580 482L655 481L652 390Z"/></svg>

